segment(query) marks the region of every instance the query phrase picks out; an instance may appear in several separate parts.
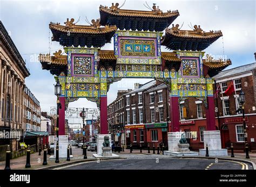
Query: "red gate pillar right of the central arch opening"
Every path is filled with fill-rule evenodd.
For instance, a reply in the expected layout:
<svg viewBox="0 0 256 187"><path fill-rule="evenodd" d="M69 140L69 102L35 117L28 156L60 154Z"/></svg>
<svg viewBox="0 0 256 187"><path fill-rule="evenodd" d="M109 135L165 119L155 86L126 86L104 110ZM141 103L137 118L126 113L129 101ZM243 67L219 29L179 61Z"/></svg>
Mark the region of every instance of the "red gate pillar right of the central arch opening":
<svg viewBox="0 0 256 187"><path fill-rule="evenodd" d="M170 96L170 118L172 132L179 132L179 97Z"/></svg>

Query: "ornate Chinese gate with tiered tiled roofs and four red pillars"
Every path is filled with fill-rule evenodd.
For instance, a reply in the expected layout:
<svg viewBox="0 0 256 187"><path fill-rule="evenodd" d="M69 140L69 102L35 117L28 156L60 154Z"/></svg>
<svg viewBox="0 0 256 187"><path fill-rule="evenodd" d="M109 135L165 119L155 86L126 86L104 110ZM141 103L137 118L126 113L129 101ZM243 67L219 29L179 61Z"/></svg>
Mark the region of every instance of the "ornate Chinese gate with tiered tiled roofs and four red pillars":
<svg viewBox="0 0 256 187"><path fill-rule="evenodd" d="M181 30L172 24L178 10L124 10L118 3L108 8L100 5L100 18L90 25L78 25L67 19L64 25L50 23L52 41L62 51L40 54L42 68L50 70L62 85L59 111L59 135L65 134L65 109L69 102L87 98L100 109L100 134L107 131L107 91L110 84L122 78L155 78L168 85L170 91L171 132L180 131L179 102L196 97L206 107L207 131L215 131L212 76L231 61L203 59L203 50L222 37L221 31ZM169 27L172 24L171 27ZM163 32L165 31L165 35ZM100 49L110 43L113 50ZM165 46L170 52L161 52Z"/></svg>

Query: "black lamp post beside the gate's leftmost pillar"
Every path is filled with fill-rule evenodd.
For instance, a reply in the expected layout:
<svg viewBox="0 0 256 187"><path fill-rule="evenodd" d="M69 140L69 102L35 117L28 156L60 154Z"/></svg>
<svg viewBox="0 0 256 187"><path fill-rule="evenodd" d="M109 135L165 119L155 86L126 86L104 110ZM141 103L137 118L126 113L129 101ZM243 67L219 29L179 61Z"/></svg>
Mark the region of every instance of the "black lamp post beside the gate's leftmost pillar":
<svg viewBox="0 0 256 187"><path fill-rule="evenodd" d="M59 102L59 96L62 94L62 85L59 83L59 79L57 80L55 87L55 95L57 96L57 127L56 127L56 135L57 135L57 144L59 143L59 109L62 108L62 104ZM59 160L59 154L57 152L59 149L56 149L56 160L55 163L58 163Z"/></svg>

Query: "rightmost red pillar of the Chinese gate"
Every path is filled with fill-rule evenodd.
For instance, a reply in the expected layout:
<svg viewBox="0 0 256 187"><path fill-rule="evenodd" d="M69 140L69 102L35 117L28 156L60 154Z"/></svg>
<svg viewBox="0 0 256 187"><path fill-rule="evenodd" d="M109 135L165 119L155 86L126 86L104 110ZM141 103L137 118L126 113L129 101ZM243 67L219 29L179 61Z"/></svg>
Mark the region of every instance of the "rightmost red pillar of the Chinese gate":
<svg viewBox="0 0 256 187"><path fill-rule="evenodd" d="M215 105L213 96L207 97L208 108L206 109L207 131L216 131L215 127Z"/></svg>

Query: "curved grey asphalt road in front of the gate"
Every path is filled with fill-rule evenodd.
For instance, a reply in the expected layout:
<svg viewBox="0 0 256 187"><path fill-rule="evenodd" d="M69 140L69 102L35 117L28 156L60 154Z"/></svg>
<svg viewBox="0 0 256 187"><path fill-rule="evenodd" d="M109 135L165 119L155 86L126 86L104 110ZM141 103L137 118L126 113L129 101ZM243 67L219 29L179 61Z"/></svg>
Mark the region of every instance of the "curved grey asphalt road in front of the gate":
<svg viewBox="0 0 256 187"><path fill-rule="evenodd" d="M121 154L120 154L121 155ZM117 169L117 170L159 170L159 169L197 169L197 170L216 170L216 169L252 169L251 164L238 161L224 161L213 159L200 158L177 158L166 155L137 155L137 154L122 154L121 156L127 159L117 160L100 160L86 163L73 164L57 169L75 169L75 170L99 170L99 169Z"/></svg>

